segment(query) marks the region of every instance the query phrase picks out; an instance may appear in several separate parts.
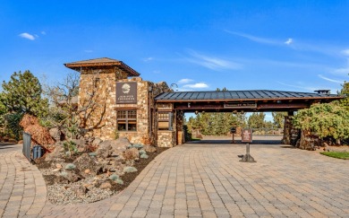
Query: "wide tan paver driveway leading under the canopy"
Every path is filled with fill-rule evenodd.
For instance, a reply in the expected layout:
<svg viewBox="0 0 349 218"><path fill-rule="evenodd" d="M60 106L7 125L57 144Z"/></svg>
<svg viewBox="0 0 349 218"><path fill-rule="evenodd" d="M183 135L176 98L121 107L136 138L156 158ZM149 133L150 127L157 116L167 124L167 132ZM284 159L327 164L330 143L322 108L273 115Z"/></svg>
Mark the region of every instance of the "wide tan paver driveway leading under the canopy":
<svg viewBox="0 0 349 218"><path fill-rule="evenodd" d="M89 205L46 203L40 217L348 217L349 161L282 144L206 141L161 153L119 195ZM257 141L259 142L259 141Z"/></svg>

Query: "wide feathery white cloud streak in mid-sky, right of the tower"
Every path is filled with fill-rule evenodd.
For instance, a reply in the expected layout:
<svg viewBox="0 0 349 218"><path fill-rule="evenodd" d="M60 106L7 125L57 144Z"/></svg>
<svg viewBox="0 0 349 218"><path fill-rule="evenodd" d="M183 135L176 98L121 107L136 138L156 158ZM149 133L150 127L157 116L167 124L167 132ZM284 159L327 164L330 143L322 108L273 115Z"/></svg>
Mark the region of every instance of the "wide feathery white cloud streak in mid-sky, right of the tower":
<svg viewBox="0 0 349 218"><path fill-rule="evenodd" d="M201 65L211 70L223 70L223 69L231 69L236 70L242 68L242 65L235 63L233 61L229 61L226 59L218 58L218 57L209 57L199 54L196 51L189 50L189 54L191 57L186 58L187 61Z"/></svg>

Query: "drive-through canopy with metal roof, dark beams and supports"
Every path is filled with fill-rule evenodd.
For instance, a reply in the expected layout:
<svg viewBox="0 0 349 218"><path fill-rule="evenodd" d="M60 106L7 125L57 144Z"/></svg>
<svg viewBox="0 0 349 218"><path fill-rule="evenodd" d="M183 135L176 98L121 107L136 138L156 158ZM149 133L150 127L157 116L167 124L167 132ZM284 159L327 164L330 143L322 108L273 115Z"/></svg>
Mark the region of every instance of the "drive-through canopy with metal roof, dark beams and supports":
<svg viewBox="0 0 349 218"><path fill-rule="evenodd" d="M306 109L314 103L327 103L342 99L342 96L330 94L326 91L318 92L283 92L268 90L250 91L217 91L217 92L164 92L159 94L155 100L158 115L168 112L174 114L174 128L166 131L173 132L170 141L176 144L183 143L183 114L184 112L265 112L265 111L287 111L292 116L298 109ZM161 117L160 116L160 117ZM158 118L160 118L158 116ZM285 118L285 123L289 117ZM160 121L160 120L159 120ZM171 125L171 123L169 123ZM286 125L284 138L290 141L292 126ZM158 131L162 142L162 132ZM162 136L162 137L161 137ZM170 136L167 134L167 137ZM166 139L167 141L168 139ZM286 140L286 141L287 141ZM173 144L175 145L175 144Z"/></svg>

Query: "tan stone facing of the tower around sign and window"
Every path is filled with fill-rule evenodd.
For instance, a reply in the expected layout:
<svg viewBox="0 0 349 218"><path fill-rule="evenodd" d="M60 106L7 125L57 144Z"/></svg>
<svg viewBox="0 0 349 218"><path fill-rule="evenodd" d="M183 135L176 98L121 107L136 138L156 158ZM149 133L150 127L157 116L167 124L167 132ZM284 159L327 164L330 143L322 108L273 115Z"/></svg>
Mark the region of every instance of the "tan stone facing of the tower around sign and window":
<svg viewBox="0 0 349 218"><path fill-rule="evenodd" d="M137 104L116 104L116 82L137 82ZM149 92L149 86L152 92ZM89 95L96 92L96 109L90 113L84 128L91 128L89 135L101 139L113 139L116 133L116 111L122 109L137 110L137 131L118 132L119 137L127 137L133 144L157 144L156 116L154 97L162 92L172 92L165 82L151 83L140 77L127 79L127 74L110 69L82 69L79 92L79 107L89 100ZM150 100L150 102L149 102ZM150 105L149 105L150 103ZM150 114L149 111L152 114ZM90 111L89 111L90 112ZM151 123L151 125L150 125ZM173 140L171 137L170 140Z"/></svg>

